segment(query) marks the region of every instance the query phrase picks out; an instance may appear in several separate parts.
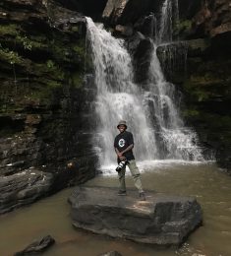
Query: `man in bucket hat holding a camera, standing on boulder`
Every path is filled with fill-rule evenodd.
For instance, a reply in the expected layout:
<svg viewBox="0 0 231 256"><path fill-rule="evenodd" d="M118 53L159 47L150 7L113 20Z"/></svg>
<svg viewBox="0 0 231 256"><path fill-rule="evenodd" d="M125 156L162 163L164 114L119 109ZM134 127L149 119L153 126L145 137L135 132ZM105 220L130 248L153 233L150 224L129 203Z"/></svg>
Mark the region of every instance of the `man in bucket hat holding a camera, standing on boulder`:
<svg viewBox="0 0 231 256"><path fill-rule="evenodd" d="M144 190L142 187L141 174L139 168L136 164L133 148L134 148L134 140L133 134L127 132L127 124L126 121L120 121L117 125L120 134L115 137L114 148L117 155L117 161L120 163L122 160L127 160L127 165L132 173L135 186L138 188L140 193L141 200L145 201ZM126 184L125 184L125 171L126 165L118 171L119 182L120 182L120 190L118 192L119 196L126 196Z"/></svg>

